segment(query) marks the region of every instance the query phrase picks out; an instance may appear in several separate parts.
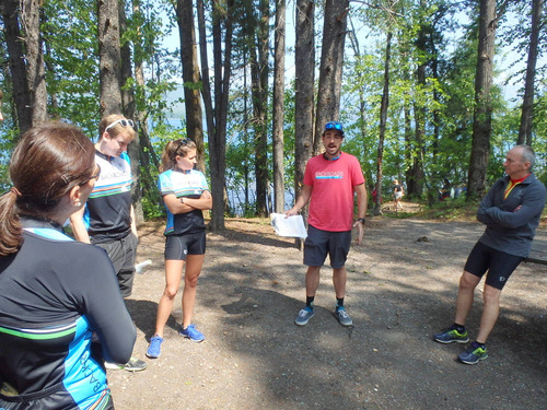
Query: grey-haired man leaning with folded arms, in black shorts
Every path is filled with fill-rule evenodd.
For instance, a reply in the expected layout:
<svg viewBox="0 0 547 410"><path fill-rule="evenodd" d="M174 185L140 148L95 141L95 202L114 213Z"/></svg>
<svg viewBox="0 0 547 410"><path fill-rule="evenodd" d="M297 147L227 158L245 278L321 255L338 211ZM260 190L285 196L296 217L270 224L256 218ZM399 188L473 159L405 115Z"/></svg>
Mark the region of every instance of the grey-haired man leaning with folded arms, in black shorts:
<svg viewBox="0 0 547 410"><path fill-rule="evenodd" d="M501 291L529 254L546 198L545 185L532 173L534 163L535 153L527 145L516 145L505 155L507 176L490 188L477 212L486 231L469 254L459 279L454 324L433 335L440 343L469 341L465 323L473 307L475 288L488 272L479 332L469 348L458 355L463 363L476 364L488 358L486 341L498 319Z"/></svg>

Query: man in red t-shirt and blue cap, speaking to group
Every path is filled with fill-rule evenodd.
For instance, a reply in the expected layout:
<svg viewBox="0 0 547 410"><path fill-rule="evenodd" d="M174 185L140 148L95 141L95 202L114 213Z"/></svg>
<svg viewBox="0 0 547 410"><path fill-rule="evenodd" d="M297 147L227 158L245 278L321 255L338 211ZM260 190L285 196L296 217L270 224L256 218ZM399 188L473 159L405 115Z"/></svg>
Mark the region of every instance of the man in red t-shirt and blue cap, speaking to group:
<svg viewBox="0 0 547 410"><path fill-rule="evenodd" d="M340 151L342 125L327 122L322 139L325 152L307 162L302 192L294 207L286 212L287 216L295 215L310 200L307 238L304 243L306 306L299 312L294 323L304 326L314 315L313 302L319 285L321 267L328 254L337 301L335 315L341 325L351 326L353 321L344 308L347 280L345 265L351 245L351 229L359 229L358 244L363 238L366 189L359 160ZM353 222L356 192L358 219Z"/></svg>

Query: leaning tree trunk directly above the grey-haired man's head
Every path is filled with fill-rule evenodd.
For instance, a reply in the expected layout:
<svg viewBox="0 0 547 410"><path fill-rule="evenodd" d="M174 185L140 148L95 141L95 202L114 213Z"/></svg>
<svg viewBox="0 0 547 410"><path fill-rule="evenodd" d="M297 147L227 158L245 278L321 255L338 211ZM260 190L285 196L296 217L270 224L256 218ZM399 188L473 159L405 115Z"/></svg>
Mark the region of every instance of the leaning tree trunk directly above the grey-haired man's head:
<svg viewBox="0 0 547 410"><path fill-rule="evenodd" d="M532 121L534 119L534 81L536 75L537 46L542 28L544 0L532 1L532 32L529 34L528 62L524 83L519 144L532 145Z"/></svg>

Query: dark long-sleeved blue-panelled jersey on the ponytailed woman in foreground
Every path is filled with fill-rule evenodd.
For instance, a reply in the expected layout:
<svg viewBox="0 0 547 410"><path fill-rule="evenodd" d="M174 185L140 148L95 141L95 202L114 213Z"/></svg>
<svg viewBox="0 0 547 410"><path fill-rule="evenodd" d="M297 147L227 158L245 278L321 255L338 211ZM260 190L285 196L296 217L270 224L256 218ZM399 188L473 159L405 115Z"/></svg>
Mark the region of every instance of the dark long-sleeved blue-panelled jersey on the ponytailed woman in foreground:
<svg viewBox="0 0 547 410"><path fill-rule="evenodd" d="M136 339L112 262L48 222L22 222L20 250L0 257L0 409L102 409L103 358L126 363Z"/></svg>

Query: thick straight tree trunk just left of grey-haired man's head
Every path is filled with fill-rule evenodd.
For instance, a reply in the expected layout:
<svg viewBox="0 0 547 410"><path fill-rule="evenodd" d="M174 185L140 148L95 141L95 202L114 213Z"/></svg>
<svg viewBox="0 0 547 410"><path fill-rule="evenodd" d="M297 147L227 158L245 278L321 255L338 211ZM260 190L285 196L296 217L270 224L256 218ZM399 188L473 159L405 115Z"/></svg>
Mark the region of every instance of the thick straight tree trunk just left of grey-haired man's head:
<svg viewBox="0 0 547 410"><path fill-rule="evenodd" d="M496 39L496 0L480 0L479 44L475 75L473 145L467 180L467 198L482 197L492 132L492 65Z"/></svg>

